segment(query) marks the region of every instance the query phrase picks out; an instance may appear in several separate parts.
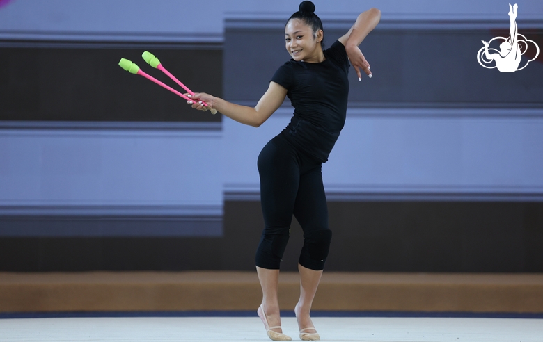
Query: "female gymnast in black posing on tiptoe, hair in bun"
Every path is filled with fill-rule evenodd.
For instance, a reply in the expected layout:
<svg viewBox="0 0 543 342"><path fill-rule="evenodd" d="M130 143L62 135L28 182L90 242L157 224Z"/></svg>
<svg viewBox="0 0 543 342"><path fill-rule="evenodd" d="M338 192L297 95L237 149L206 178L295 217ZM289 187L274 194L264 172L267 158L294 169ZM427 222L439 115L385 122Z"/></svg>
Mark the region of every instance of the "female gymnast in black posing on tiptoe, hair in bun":
<svg viewBox="0 0 543 342"><path fill-rule="evenodd" d="M304 231L299 257L300 298L294 314L302 340L318 340L310 309L329 252L331 230L322 184L322 163L345 124L349 60L361 80L369 77L370 64L359 49L362 40L377 26L376 8L359 15L349 31L323 51L324 31L311 1L303 1L285 25L285 47L292 57L278 68L269 88L254 107L239 106L195 93L192 108L203 110L202 101L242 124L259 127L289 97L294 106L290 124L260 152L260 197L265 228L256 252L256 270L262 286L258 316L270 339L290 340L281 330L277 297L279 266L290 236L294 215Z"/></svg>

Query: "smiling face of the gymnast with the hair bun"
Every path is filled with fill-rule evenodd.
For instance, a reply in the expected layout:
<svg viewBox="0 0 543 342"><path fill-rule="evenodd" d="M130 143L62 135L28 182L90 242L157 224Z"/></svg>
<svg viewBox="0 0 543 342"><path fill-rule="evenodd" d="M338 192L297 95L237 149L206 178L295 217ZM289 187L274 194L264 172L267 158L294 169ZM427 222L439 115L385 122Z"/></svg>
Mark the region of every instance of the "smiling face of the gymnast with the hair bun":
<svg viewBox="0 0 543 342"><path fill-rule="evenodd" d="M310 26L300 19L291 19L285 26L285 47L292 59L308 63L324 60L320 41L322 30L313 33Z"/></svg>

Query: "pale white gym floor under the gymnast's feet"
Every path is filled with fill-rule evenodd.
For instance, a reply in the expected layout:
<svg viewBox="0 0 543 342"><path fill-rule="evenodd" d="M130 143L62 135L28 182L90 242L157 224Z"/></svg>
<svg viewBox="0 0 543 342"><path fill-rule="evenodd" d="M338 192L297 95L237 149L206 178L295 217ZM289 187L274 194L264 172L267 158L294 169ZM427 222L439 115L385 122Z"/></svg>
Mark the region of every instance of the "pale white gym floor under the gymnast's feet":
<svg viewBox="0 0 543 342"><path fill-rule="evenodd" d="M299 340L294 317L283 332ZM323 341L541 341L541 318L314 317ZM254 317L0 319L0 341L269 341Z"/></svg>

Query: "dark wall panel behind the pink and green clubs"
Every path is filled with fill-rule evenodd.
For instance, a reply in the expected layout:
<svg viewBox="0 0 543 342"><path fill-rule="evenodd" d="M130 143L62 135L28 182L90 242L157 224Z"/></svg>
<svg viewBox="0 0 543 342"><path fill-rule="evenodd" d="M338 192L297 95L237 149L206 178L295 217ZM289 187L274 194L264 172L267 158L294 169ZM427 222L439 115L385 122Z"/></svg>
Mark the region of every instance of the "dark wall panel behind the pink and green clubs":
<svg viewBox="0 0 543 342"><path fill-rule="evenodd" d="M221 121L118 66L141 70L184 90L141 58L149 50L191 90L222 96L222 56L217 49L0 47L0 120Z"/></svg>

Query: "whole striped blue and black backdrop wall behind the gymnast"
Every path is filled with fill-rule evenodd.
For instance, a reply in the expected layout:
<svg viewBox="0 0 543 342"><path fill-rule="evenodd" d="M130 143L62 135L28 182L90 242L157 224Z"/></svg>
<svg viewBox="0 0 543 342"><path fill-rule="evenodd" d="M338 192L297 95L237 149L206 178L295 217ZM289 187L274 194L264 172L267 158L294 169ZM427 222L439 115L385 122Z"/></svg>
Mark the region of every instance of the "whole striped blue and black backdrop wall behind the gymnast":
<svg viewBox="0 0 543 342"><path fill-rule="evenodd" d="M383 13L361 46L374 77L351 75L345 129L323 167L329 267L541 272L543 57L513 74L475 58L481 40L507 35L507 3L315 3L328 46L361 10ZM543 5L517 3L519 32L543 47ZM194 90L254 105L288 59L282 30L297 6L205 1L202 19L180 1L4 4L0 268L252 269L262 226L255 161L290 120L288 101L254 129L182 113L175 95L113 62L100 77L74 77L77 58L57 61L96 56L97 71L100 58L159 51ZM22 55L38 69L29 74ZM189 55L207 57L179 62ZM36 74L39 86L23 82ZM53 75L73 81L44 81ZM8 96L16 86L23 95ZM44 98L26 91L36 87L57 100L37 105ZM286 269L300 241L294 234Z"/></svg>

